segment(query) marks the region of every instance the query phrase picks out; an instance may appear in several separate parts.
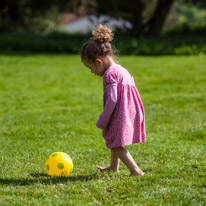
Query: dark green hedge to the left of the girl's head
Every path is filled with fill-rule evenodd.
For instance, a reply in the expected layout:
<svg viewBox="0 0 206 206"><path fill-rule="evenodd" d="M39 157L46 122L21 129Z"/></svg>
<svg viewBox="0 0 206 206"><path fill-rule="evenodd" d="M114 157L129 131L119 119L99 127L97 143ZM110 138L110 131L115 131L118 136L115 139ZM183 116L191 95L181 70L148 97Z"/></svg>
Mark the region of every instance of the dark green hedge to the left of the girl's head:
<svg viewBox="0 0 206 206"><path fill-rule="evenodd" d="M5 33L0 34L0 51L75 54L79 52L84 41L86 41L86 36L68 35L65 33L51 33L47 35L31 32Z"/></svg>

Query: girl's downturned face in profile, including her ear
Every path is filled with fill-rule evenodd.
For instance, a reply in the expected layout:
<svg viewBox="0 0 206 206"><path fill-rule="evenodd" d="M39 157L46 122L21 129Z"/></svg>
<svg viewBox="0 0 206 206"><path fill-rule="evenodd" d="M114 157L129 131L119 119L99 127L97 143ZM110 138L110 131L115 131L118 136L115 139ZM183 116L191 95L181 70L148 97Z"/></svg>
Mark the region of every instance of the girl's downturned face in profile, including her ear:
<svg viewBox="0 0 206 206"><path fill-rule="evenodd" d="M91 70L91 73L102 77L106 71L103 61L101 59L96 59L94 63L91 63L87 60L83 60L83 63L86 67Z"/></svg>

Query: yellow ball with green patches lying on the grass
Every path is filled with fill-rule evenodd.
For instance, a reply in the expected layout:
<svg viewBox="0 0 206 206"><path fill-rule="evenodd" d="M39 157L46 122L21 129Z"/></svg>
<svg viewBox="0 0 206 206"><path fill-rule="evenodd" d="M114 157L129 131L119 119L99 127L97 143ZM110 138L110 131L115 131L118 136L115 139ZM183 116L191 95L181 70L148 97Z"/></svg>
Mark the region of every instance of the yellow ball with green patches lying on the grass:
<svg viewBox="0 0 206 206"><path fill-rule="evenodd" d="M50 154L45 166L50 176L70 176L74 167L71 157L64 152Z"/></svg>

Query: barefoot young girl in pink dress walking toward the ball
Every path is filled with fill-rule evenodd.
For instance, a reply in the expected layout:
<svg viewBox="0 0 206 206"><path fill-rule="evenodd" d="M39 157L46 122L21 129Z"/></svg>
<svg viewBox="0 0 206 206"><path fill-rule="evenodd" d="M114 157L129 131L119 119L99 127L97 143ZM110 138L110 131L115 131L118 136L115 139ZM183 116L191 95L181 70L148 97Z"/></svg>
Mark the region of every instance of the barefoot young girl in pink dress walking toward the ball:
<svg viewBox="0 0 206 206"><path fill-rule="evenodd" d="M81 51L84 65L93 74L103 76L104 110L96 126L103 130L106 146L111 150L111 164L97 168L118 172L121 160L130 170L130 176L144 176L123 147L146 141L144 108L132 75L114 60L109 43L112 39L112 30L100 24L93 30L93 39Z"/></svg>

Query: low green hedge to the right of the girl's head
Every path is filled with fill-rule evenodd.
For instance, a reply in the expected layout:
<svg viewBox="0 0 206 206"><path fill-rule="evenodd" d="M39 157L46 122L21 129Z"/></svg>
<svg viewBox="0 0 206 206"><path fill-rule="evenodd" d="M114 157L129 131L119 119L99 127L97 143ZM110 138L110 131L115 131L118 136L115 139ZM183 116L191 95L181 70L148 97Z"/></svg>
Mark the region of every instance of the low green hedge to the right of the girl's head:
<svg viewBox="0 0 206 206"><path fill-rule="evenodd" d="M122 54L141 55L203 55L206 42L198 36L164 36L158 39L121 38L117 44Z"/></svg>

